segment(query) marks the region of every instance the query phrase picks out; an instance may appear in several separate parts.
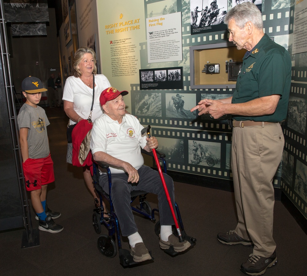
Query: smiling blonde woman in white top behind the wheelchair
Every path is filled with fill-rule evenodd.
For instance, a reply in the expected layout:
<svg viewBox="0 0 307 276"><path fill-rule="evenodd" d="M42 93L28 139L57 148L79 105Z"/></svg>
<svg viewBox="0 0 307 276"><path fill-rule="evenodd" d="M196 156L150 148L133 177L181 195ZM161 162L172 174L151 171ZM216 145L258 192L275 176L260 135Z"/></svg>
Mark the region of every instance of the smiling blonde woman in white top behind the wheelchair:
<svg viewBox="0 0 307 276"><path fill-rule="evenodd" d="M91 114L92 121L103 114L99 97L104 89L111 87L111 84L107 77L96 75L96 73L96 54L94 50L91 48L78 49L73 61L73 76L67 78L63 91L64 111L70 119L70 124L76 124L80 120L89 117L93 101L93 86L95 87L95 93ZM93 75L95 75L94 84ZM66 162L72 164L72 143L68 143ZM92 183L89 167L83 167L83 176L95 200L97 195Z"/></svg>

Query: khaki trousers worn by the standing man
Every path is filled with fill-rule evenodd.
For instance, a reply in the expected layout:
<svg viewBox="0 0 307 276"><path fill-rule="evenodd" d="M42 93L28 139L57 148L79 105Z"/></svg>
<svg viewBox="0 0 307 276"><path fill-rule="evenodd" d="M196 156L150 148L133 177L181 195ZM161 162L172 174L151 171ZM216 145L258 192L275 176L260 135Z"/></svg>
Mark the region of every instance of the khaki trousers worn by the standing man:
<svg viewBox="0 0 307 276"><path fill-rule="evenodd" d="M251 240L253 254L270 257L273 239L273 177L282 158L284 136L280 124L233 128L231 170L240 237Z"/></svg>

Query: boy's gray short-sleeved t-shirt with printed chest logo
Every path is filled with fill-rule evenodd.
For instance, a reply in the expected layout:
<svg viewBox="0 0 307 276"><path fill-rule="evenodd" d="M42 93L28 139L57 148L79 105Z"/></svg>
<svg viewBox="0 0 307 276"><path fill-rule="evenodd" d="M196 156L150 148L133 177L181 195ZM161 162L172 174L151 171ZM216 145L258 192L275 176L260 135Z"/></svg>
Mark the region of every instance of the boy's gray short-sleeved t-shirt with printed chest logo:
<svg viewBox="0 0 307 276"><path fill-rule="evenodd" d="M45 110L40 106L36 108L23 104L17 116L18 128L29 128L28 147L29 158L45 158L49 155L49 142L47 126L50 124Z"/></svg>

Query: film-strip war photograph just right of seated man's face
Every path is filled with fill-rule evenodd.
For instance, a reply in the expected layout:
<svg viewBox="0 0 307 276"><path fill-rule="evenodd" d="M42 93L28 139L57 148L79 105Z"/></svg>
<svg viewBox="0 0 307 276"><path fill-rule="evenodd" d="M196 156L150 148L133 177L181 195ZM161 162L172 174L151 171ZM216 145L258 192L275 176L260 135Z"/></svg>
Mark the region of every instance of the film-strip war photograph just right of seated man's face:
<svg viewBox="0 0 307 276"><path fill-rule="evenodd" d="M134 106L135 115L161 117L161 93L138 93Z"/></svg>

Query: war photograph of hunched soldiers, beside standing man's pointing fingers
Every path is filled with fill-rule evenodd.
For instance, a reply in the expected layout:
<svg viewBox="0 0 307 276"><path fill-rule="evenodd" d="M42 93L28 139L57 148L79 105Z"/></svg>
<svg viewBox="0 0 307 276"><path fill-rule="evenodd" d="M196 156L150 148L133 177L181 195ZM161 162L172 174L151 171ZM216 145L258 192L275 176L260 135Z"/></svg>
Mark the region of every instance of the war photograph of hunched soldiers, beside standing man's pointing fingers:
<svg viewBox="0 0 307 276"><path fill-rule="evenodd" d="M195 119L196 111L190 111L195 106L195 101L195 94L166 93L166 117Z"/></svg>

